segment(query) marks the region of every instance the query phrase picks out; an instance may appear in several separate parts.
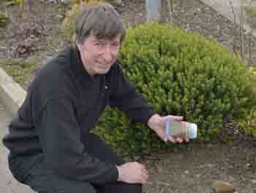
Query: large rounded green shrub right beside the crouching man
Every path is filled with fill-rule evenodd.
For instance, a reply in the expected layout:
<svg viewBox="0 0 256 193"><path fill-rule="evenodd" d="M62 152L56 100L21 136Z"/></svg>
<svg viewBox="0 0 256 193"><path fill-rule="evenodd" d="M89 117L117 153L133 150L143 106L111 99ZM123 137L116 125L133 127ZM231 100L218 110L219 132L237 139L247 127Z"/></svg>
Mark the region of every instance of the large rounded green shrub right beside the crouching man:
<svg viewBox="0 0 256 193"><path fill-rule="evenodd" d="M129 28L119 60L157 113L197 123L201 140L222 130L222 118L244 117L256 103L248 70L226 47L167 24ZM105 111L96 132L130 154L166 146L145 125L117 110Z"/></svg>

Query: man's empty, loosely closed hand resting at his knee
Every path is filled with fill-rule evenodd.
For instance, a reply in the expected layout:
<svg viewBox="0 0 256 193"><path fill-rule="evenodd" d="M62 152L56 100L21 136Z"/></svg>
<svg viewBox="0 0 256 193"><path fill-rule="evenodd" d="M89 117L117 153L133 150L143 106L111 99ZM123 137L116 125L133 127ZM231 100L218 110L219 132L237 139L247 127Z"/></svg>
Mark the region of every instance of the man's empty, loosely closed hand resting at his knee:
<svg viewBox="0 0 256 193"><path fill-rule="evenodd" d="M127 162L117 166L117 169L118 181L145 184L148 179L148 172L145 166L138 162Z"/></svg>

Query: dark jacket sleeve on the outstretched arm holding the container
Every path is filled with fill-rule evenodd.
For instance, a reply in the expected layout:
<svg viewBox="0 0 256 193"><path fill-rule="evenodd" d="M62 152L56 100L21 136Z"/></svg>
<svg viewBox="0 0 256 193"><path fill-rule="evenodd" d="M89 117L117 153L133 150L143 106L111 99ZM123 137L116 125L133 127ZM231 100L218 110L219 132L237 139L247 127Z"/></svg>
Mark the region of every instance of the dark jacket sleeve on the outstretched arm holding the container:
<svg viewBox="0 0 256 193"><path fill-rule="evenodd" d="M113 68L114 79L110 106L118 107L129 117L146 124L148 119L155 114L154 109L146 103L142 95L136 92L135 87L129 82L117 63Z"/></svg>

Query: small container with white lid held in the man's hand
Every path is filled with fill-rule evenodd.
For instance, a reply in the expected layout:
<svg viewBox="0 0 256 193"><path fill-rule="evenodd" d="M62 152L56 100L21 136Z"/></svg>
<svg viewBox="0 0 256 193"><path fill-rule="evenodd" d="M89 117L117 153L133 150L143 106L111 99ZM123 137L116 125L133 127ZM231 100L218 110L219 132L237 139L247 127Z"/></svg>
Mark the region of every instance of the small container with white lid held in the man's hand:
<svg viewBox="0 0 256 193"><path fill-rule="evenodd" d="M165 141L169 139L169 136L197 138L197 125L192 122L167 119L165 123Z"/></svg>

